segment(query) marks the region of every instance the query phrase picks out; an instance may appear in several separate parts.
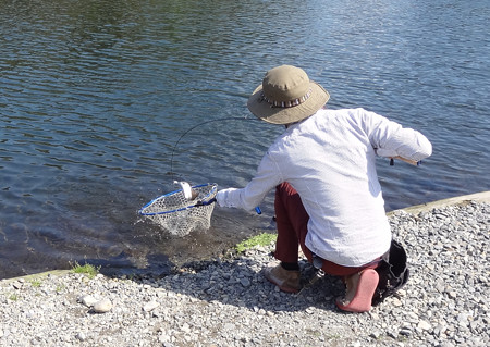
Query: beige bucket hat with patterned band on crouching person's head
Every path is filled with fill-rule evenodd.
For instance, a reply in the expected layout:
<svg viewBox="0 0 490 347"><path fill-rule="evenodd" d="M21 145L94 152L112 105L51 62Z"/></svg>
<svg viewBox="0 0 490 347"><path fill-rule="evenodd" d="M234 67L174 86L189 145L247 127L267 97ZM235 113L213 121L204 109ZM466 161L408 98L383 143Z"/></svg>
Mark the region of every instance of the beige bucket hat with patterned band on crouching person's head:
<svg viewBox="0 0 490 347"><path fill-rule="evenodd" d="M269 70L248 98L247 107L258 119L272 124L302 121L330 99L319 84L310 80L306 72L292 65Z"/></svg>

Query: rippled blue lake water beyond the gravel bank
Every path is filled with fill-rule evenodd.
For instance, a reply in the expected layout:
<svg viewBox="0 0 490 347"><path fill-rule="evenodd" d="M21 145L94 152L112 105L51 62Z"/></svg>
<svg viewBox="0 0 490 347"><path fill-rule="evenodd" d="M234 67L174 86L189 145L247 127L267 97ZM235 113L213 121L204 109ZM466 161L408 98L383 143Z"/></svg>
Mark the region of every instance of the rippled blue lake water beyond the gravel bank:
<svg viewBox="0 0 490 347"><path fill-rule="evenodd" d="M379 160L387 210L488 190L489 7L0 0L0 277L75 261L160 273L269 225L271 196L261 215L217 208L209 231L183 238L137 211L175 178L253 177L282 128L246 100L284 63L322 84L329 108L363 107L432 141L420 168ZM223 117L245 120L196 126Z"/></svg>

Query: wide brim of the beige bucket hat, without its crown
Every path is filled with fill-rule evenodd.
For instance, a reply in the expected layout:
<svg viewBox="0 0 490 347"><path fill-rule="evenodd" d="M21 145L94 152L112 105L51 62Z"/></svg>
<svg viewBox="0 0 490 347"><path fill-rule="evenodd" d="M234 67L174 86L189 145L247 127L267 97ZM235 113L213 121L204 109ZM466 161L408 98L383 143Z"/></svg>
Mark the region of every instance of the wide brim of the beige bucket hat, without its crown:
<svg viewBox="0 0 490 347"><path fill-rule="evenodd" d="M313 80L309 82L309 85L310 97L305 102L291 108L273 107L268 103L261 96L262 85L259 85L248 98L248 110L259 120L272 124L299 122L317 112L330 99L329 92L322 86Z"/></svg>

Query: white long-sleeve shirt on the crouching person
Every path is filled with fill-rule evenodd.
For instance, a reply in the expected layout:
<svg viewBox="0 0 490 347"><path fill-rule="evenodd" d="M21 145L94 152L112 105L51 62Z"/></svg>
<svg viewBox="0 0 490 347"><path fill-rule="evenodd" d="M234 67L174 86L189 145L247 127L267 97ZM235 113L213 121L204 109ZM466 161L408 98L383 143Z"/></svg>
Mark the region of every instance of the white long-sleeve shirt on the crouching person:
<svg viewBox="0 0 490 347"><path fill-rule="evenodd" d="M309 215L306 246L340 265L360 267L391 243L376 156L420 161L431 152L424 135L373 112L321 109L275 139L245 188L220 190L217 201L252 210L289 182Z"/></svg>

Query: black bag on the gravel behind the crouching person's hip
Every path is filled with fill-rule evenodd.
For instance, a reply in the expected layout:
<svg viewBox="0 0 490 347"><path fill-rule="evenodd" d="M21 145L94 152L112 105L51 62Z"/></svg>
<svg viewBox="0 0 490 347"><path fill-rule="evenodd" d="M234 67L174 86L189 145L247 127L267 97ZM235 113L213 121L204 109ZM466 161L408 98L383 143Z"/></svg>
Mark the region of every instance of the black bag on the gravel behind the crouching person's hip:
<svg viewBox="0 0 490 347"><path fill-rule="evenodd" d="M391 241L390 251L383 256L381 264L376 269L379 275L378 287L372 297L372 306L381 303L395 294L408 281L405 249L395 240Z"/></svg>

